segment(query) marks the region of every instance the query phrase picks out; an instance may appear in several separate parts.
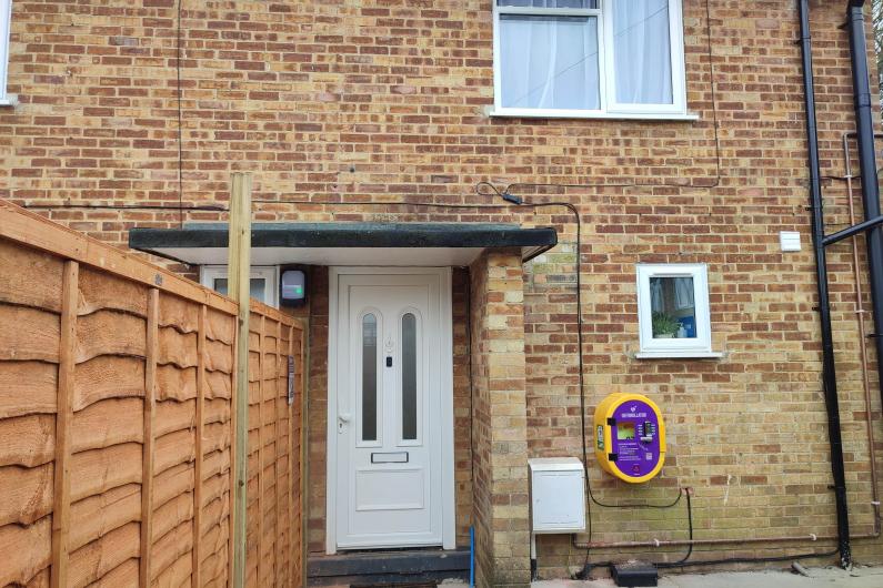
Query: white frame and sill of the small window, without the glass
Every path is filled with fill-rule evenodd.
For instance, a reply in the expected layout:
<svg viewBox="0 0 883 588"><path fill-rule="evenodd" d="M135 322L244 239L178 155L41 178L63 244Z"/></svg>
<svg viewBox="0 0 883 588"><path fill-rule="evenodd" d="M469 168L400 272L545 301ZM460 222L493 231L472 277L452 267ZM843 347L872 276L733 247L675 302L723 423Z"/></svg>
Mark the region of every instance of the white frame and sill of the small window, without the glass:
<svg viewBox="0 0 883 588"><path fill-rule="evenodd" d="M653 304L650 292L652 277L691 277L695 304L696 338L654 338ZM705 264L639 264L638 322L641 351L639 359L721 357L712 351L711 307L709 304L709 268Z"/></svg>

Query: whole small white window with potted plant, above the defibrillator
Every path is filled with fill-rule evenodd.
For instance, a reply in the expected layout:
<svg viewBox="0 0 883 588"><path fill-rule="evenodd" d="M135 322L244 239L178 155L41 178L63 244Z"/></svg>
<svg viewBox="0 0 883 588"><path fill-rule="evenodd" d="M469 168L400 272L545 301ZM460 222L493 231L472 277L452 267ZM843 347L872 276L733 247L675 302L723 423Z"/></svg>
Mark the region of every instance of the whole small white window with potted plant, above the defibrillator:
<svg viewBox="0 0 883 588"><path fill-rule="evenodd" d="M704 264L638 266L639 358L720 357L711 349Z"/></svg>

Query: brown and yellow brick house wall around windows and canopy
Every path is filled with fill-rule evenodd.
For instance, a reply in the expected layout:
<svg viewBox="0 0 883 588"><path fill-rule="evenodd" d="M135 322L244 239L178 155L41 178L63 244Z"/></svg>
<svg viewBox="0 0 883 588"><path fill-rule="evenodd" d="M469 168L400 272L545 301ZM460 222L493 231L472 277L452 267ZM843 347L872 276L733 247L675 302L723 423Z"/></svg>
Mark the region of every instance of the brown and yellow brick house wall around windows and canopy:
<svg viewBox="0 0 883 588"><path fill-rule="evenodd" d="M223 204L230 171L251 170L257 199L311 202L261 204L259 220L556 226L561 245L524 273L532 456L580 453L574 227L566 211L329 203L488 203L474 193L480 181L521 184L513 191L531 200L574 203L583 221L589 410L609 392L628 389L651 395L669 419L663 476L625 488L592 467L599 499L665 501L691 486L700 538L833 533L794 2L709 0L708 20L704 1L684 0L693 123L488 118L489 4L183 0L182 202ZM847 42L839 29L843 2L811 4L822 172L842 175L841 136L854 128ZM13 2L9 91L20 105L0 109L0 197L178 204L177 22L171 0ZM825 203L831 229L843 226L841 182L827 183ZM179 222L177 212L44 212L113 243L124 243L134 224ZM779 252L783 230L802 233L803 252ZM709 264L720 361L632 358L634 264L674 261ZM849 497L861 534L872 529L872 510L850 265L849 244L831 251ZM324 430L321 328L312 325L317 443L315 432ZM880 439L879 395L872 398ZM463 414L458 408L458 427ZM321 446L313 445L311 458L311 472L322 472ZM321 491L311 494L313 547L321 547ZM594 508L593 538L683 537L682 507ZM643 555L680 557L662 551ZM735 545L714 557L781 552ZM543 538L540 554L545 575L563 575L584 559L568 538ZM880 544L856 541L855 554L879 560ZM698 549L694 557L705 554Z"/></svg>

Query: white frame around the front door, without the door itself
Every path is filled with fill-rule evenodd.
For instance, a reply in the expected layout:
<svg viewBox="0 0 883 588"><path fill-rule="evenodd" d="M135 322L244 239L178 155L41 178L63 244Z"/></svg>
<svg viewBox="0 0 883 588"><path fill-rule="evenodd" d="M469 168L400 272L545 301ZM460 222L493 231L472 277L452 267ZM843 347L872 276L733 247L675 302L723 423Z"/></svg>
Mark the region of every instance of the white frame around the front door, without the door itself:
<svg viewBox="0 0 883 588"><path fill-rule="evenodd" d="M328 429L325 455L325 552L338 551L338 316L342 275L435 275L441 286L439 322L441 330L441 455L442 455L442 547L456 547L454 501L454 402L453 402L453 311L450 267L330 267L328 296Z"/></svg>

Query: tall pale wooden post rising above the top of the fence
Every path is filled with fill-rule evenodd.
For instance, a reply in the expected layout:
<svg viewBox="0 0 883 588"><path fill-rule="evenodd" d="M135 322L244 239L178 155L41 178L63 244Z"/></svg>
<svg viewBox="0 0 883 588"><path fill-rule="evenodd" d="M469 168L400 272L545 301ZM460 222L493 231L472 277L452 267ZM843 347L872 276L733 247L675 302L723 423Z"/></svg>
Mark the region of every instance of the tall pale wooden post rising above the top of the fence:
<svg viewBox="0 0 883 588"><path fill-rule="evenodd" d="M245 586L245 521L249 436L249 304L251 270L251 175L234 173L230 191L229 293L239 306L235 361L235 495L233 511L233 588ZM260 578L258 579L260 582Z"/></svg>

